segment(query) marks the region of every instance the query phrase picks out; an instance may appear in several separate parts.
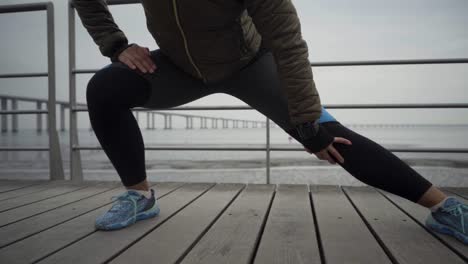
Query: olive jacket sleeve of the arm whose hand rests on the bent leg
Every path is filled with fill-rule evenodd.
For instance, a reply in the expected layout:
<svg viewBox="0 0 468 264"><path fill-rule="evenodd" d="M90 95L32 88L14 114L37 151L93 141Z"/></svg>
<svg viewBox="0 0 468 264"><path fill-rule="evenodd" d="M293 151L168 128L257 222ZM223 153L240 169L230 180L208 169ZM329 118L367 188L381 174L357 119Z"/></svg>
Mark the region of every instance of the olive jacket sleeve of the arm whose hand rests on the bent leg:
<svg viewBox="0 0 468 264"><path fill-rule="evenodd" d="M114 22L106 0L72 0L72 4L102 55L112 59L128 46L127 37Z"/></svg>

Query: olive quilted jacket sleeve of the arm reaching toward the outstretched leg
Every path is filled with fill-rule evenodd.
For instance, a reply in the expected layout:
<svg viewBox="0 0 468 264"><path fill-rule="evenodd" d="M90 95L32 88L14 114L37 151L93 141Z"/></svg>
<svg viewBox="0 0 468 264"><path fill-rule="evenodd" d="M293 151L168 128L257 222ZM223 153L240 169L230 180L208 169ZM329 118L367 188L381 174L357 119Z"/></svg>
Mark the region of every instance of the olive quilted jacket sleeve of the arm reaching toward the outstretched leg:
<svg viewBox="0 0 468 264"><path fill-rule="evenodd" d="M244 0L244 6L265 47L274 55L292 125L319 119L320 97L291 0Z"/></svg>

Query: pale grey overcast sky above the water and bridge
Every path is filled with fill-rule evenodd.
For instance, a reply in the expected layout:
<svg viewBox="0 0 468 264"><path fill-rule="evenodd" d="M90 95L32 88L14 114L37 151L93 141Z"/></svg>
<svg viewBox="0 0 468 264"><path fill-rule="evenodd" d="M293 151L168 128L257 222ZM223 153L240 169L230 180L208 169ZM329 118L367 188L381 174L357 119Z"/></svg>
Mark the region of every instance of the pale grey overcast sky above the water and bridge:
<svg viewBox="0 0 468 264"><path fill-rule="evenodd" d="M160 0L161 1L161 0ZM203 1L203 0L201 0ZM34 1L2 0L1 4ZM68 100L68 32L65 0L55 0L57 98ZM465 0L293 0L310 61L431 59L468 57L468 1ZM111 12L130 42L157 49L148 33L140 4L113 6ZM76 16L77 67L109 63ZM46 70L45 12L0 14L0 72ZM412 65L313 68L323 104L466 103L468 65ZM91 75L78 78L77 98L85 102ZM45 98L45 78L2 79L2 94ZM240 105L236 98L215 94L191 105ZM22 108L33 105L23 104ZM464 123L467 110L334 110L343 123ZM204 113L204 112L201 112ZM216 111L263 120L256 111ZM83 118L87 116L82 113ZM32 120L32 119L31 119Z"/></svg>

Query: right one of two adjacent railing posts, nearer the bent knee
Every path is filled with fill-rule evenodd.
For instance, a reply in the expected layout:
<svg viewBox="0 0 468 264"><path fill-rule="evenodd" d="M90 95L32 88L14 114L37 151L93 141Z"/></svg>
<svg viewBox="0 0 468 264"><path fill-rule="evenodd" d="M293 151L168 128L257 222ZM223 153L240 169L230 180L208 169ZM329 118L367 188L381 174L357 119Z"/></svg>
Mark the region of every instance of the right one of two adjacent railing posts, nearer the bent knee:
<svg viewBox="0 0 468 264"><path fill-rule="evenodd" d="M69 97L70 97L70 180L73 182L83 181L81 168L81 153L75 146L78 143L78 122L76 109L76 44L75 44L75 9L72 0L68 2L68 73L69 73ZM90 129L91 130L91 129Z"/></svg>

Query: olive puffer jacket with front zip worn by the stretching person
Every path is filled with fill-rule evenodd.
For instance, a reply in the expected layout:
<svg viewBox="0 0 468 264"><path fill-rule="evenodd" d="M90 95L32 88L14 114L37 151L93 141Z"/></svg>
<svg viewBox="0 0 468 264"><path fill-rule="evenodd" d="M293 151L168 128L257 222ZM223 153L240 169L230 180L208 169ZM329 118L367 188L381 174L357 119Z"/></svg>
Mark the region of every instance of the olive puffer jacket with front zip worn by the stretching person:
<svg viewBox="0 0 468 264"><path fill-rule="evenodd" d="M161 51L207 84L246 66L263 40L275 58L291 126L319 119L320 97L291 0L140 1ZM72 4L104 56L115 58L128 45L105 0Z"/></svg>

